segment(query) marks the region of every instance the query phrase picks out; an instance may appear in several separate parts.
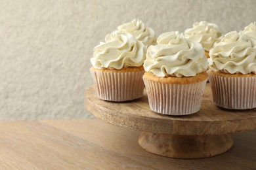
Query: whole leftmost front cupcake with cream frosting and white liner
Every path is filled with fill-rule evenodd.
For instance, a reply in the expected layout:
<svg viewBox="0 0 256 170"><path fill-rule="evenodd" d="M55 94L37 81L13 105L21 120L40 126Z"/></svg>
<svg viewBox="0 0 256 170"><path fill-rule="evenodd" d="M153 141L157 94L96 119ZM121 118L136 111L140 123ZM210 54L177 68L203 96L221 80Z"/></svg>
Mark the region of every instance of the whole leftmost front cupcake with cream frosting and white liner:
<svg viewBox="0 0 256 170"><path fill-rule="evenodd" d="M129 101L142 97L146 46L130 33L111 33L95 47L91 75L98 97L107 101Z"/></svg>

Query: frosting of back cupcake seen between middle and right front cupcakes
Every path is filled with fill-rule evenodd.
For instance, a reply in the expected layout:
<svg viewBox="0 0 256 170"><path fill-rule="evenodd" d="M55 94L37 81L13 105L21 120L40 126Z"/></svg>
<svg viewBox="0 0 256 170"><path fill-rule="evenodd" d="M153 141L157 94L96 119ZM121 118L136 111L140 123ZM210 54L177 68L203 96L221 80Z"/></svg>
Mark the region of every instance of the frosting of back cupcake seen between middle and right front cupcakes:
<svg viewBox="0 0 256 170"><path fill-rule="evenodd" d="M192 28L186 29L184 36L186 39L200 42L204 50L209 52L213 44L221 37L221 32L217 24L202 21L195 22Z"/></svg>

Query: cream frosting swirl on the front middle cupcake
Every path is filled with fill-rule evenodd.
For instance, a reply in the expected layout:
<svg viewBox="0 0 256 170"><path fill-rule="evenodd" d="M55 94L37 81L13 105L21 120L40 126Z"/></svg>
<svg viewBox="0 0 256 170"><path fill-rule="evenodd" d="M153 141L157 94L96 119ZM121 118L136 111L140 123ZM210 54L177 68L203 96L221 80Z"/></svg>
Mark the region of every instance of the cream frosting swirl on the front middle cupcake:
<svg viewBox="0 0 256 170"><path fill-rule="evenodd" d="M163 33L156 46L149 46L144 61L146 72L158 77L196 76L207 69L203 47L179 32Z"/></svg>

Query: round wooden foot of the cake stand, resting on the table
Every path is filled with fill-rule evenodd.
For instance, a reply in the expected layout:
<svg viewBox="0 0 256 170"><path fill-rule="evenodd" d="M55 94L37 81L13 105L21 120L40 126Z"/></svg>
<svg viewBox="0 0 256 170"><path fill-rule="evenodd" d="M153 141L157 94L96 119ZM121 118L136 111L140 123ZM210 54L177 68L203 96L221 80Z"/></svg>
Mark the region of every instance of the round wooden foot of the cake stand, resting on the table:
<svg viewBox="0 0 256 170"><path fill-rule="evenodd" d="M170 135L142 132L142 148L171 158L206 158L222 154L233 146L231 135Z"/></svg>

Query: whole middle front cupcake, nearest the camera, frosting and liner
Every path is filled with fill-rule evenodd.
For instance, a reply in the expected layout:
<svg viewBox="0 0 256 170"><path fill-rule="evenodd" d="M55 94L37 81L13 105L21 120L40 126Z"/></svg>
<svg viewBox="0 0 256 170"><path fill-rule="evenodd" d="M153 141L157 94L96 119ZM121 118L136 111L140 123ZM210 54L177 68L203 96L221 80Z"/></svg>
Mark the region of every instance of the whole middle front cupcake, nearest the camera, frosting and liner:
<svg viewBox="0 0 256 170"><path fill-rule="evenodd" d="M150 109L161 114L198 112L207 73L203 47L179 32L163 33L149 46L143 76Z"/></svg>

